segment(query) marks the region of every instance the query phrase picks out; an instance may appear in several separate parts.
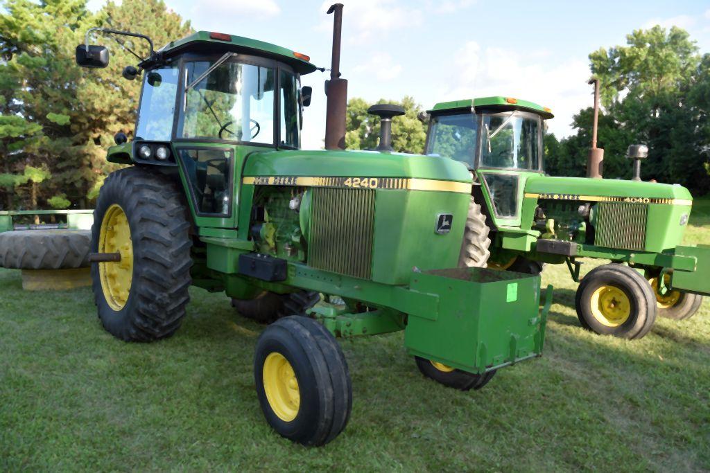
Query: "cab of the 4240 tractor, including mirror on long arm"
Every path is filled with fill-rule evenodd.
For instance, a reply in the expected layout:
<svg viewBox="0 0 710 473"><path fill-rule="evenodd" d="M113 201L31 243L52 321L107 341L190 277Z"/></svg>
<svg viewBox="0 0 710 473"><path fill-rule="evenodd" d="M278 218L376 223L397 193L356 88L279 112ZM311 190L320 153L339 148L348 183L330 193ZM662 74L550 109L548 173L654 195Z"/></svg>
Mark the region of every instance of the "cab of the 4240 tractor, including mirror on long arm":
<svg viewBox="0 0 710 473"><path fill-rule="evenodd" d="M135 33L102 30L103 33ZM77 46L77 62L106 67L106 48ZM300 148L310 58L263 41L200 31L124 69L143 87L133 140L116 135L108 159L180 168L201 225L236 226L239 175L246 155ZM236 189L235 189L236 188Z"/></svg>

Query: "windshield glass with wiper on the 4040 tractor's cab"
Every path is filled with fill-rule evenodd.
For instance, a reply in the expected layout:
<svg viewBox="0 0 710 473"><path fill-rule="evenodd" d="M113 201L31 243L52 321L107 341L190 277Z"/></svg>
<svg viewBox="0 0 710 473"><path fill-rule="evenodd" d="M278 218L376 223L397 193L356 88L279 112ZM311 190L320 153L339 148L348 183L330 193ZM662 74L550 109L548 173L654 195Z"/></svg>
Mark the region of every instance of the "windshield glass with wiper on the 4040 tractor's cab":
<svg viewBox="0 0 710 473"><path fill-rule="evenodd" d="M520 111L484 114L481 120L481 167L540 167L540 117Z"/></svg>

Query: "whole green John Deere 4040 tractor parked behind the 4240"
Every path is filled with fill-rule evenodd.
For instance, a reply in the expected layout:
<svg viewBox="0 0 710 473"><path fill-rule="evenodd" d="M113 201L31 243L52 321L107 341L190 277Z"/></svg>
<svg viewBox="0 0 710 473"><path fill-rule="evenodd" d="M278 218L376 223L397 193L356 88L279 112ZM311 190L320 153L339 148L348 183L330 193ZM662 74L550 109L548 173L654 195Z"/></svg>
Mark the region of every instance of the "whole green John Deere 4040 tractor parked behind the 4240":
<svg viewBox="0 0 710 473"><path fill-rule="evenodd" d="M645 147L629 148L633 181L549 177L549 108L494 96L439 103L428 116L427 155L463 162L473 179L468 265L538 274L567 264L579 282L579 258L611 260L581 280L575 304L584 328L623 338L643 337L657 314L689 318L710 294L710 247L681 246L692 196L640 182Z"/></svg>

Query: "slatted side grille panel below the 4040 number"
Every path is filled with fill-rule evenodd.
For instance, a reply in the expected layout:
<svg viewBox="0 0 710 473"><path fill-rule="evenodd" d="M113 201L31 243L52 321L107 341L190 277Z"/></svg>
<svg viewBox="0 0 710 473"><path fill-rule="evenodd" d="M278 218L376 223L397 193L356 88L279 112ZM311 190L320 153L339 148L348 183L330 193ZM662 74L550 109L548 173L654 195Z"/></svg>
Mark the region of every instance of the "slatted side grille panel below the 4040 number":
<svg viewBox="0 0 710 473"><path fill-rule="evenodd" d="M647 204L600 202L596 206L594 245L621 250L643 250Z"/></svg>

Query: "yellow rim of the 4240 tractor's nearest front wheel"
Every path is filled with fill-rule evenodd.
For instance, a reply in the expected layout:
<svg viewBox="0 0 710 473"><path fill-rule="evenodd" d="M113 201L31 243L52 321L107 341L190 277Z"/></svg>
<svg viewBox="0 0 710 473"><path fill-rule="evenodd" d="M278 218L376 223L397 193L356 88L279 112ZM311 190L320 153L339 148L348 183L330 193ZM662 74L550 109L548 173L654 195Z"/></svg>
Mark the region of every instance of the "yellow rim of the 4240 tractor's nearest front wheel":
<svg viewBox="0 0 710 473"><path fill-rule="evenodd" d="M290 422L298 415L301 394L293 367L277 352L269 353L263 366L266 399L273 412L282 421Z"/></svg>

